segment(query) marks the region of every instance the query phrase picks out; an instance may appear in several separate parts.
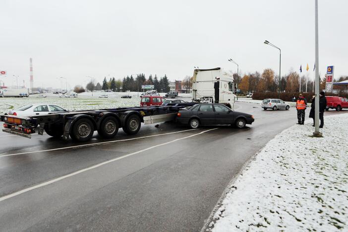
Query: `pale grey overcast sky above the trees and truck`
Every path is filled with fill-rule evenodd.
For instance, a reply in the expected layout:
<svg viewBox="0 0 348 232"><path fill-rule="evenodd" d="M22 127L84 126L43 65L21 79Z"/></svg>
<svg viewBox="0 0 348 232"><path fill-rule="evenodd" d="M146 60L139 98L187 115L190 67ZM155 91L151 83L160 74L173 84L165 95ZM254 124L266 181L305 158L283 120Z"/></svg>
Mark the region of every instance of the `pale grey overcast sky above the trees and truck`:
<svg viewBox="0 0 348 232"><path fill-rule="evenodd" d="M1 0L0 76L29 86L71 87L92 76L167 74L180 80L199 68L239 74L272 68L282 75L300 64L313 77L314 0ZM348 75L348 1L319 0L319 71L335 65ZM108 76L110 75L110 76ZM14 83L14 82L13 82Z"/></svg>

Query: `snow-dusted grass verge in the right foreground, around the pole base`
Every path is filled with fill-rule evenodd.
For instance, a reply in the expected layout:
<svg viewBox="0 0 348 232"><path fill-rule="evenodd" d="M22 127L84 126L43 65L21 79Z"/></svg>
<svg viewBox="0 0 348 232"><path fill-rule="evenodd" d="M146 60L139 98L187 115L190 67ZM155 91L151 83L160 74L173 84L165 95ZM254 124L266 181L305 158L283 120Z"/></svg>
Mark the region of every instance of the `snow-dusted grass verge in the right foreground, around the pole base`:
<svg viewBox="0 0 348 232"><path fill-rule="evenodd" d="M208 230L348 231L348 114L271 140L230 186Z"/></svg>

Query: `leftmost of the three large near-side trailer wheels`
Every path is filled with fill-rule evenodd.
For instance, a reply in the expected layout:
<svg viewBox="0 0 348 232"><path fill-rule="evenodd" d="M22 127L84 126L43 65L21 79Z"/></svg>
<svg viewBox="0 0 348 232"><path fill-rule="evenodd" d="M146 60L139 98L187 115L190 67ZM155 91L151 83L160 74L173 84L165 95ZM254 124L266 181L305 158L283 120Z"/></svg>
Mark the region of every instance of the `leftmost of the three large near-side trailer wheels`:
<svg viewBox="0 0 348 232"><path fill-rule="evenodd" d="M78 119L71 130L71 138L78 142L85 142L92 138L94 132L94 126L90 119L81 118Z"/></svg>

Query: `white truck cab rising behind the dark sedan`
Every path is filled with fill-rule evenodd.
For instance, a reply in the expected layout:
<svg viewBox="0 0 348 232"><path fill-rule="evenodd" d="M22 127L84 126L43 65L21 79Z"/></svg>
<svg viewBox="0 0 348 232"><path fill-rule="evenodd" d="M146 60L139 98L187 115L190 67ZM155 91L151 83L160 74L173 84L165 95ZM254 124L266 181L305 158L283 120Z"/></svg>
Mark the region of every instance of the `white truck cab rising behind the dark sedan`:
<svg viewBox="0 0 348 232"><path fill-rule="evenodd" d="M233 109L233 76L222 68L195 69L192 78L193 101L221 103Z"/></svg>

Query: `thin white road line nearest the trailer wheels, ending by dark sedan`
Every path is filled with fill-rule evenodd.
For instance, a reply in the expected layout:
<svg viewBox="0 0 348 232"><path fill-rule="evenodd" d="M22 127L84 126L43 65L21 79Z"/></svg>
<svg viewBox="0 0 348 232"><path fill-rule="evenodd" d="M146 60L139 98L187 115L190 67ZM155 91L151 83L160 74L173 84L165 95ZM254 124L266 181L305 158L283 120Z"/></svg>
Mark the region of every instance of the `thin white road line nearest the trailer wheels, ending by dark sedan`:
<svg viewBox="0 0 348 232"><path fill-rule="evenodd" d="M191 130L197 130L197 129L180 130L180 131L169 132L169 133L164 133L164 134L154 134L154 135L148 135L148 136L142 136L142 137L136 137L136 138L130 138L130 139L112 140L112 141L100 142L100 143L89 143L89 144L76 145L76 146L70 146L70 147L60 147L60 148L54 148L54 149L48 149L48 150L29 151L29 152L21 152L21 153L0 155L0 158L1 157L6 157L6 156L17 156L17 155L24 155L24 154L31 154L31 153L64 150L64 149L70 149L70 148L80 148L80 147L96 146L96 145L100 145L100 144L116 143L116 142L129 141L129 140L135 140L135 139L141 139L141 138L149 138L149 137L155 137L155 136L161 136L161 135L167 135L167 134L176 134L176 133L186 132L186 131L191 131Z"/></svg>

